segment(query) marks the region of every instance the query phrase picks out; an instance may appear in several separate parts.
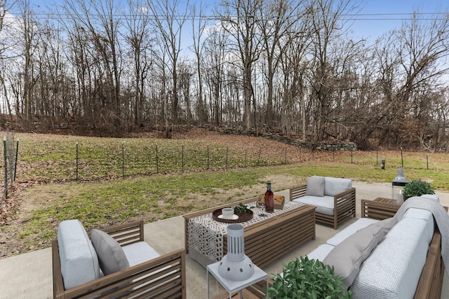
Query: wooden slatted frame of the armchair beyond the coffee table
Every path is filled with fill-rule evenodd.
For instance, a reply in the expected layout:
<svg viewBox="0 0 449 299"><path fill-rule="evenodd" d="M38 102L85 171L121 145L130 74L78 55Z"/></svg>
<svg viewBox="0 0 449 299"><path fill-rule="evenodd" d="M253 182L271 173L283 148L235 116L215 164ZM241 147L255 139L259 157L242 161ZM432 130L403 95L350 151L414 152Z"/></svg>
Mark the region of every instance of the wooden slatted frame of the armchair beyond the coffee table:
<svg viewBox="0 0 449 299"><path fill-rule="evenodd" d="M306 195L307 184L296 188L290 188L290 200ZM334 195L334 214L326 215L315 212L316 222L333 225L334 230L337 226L349 217L356 216L356 188L350 188L346 191Z"/></svg>

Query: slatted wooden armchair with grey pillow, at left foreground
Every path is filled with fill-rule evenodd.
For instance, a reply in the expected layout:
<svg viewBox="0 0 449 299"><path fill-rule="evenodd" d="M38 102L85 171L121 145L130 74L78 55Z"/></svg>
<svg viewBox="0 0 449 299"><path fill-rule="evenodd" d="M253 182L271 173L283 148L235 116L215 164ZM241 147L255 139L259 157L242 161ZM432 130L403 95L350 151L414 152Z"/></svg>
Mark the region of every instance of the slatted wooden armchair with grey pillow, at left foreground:
<svg viewBox="0 0 449 299"><path fill-rule="evenodd" d="M185 250L161 256L144 242L142 221L90 234L62 221L52 258L53 298L186 298Z"/></svg>

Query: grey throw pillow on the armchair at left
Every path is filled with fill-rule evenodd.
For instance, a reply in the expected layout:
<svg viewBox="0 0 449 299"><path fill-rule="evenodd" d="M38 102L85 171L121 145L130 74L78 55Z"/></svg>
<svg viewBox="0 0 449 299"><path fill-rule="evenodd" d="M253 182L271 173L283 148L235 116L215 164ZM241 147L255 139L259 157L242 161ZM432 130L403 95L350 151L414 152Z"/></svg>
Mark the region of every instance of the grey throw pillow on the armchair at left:
<svg viewBox="0 0 449 299"><path fill-rule="evenodd" d="M102 230L92 230L91 240L97 251L98 262L105 275L127 269L128 259L119 242Z"/></svg>

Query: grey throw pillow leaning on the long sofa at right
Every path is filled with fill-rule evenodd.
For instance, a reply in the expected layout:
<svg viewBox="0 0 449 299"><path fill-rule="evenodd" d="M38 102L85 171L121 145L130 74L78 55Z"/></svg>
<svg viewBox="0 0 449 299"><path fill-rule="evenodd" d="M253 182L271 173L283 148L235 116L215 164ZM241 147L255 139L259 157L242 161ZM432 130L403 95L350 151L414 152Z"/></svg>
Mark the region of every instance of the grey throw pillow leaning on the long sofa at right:
<svg viewBox="0 0 449 299"><path fill-rule="evenodd" d="M357 230L335 246L324 258L323 263L333 266L335 275L345 277L343 285L349 288L360 271L363 261L370 256L371 251L396 223L398 223L396 218L387 218Z"/></svg>

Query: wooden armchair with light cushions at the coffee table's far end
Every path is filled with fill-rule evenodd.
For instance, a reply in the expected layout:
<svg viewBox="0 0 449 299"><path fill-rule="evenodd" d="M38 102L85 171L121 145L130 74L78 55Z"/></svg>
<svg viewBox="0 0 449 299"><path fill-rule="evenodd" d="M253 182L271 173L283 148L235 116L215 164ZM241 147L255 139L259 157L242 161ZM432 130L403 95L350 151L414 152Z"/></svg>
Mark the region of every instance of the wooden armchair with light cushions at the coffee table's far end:
<svg viewBox="0 0 449 299"><path fill-rule="evenodd" d="M315 206L316 222L337 226L356 216L356 188L350 179L311 176L307 184L290 188L290 200Z"/></svg>

